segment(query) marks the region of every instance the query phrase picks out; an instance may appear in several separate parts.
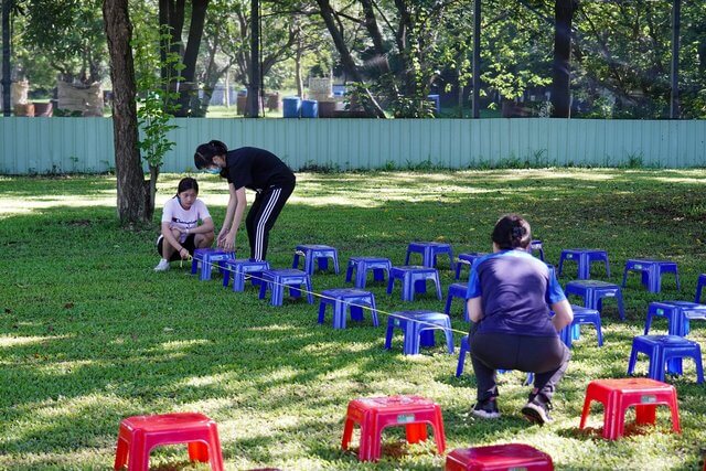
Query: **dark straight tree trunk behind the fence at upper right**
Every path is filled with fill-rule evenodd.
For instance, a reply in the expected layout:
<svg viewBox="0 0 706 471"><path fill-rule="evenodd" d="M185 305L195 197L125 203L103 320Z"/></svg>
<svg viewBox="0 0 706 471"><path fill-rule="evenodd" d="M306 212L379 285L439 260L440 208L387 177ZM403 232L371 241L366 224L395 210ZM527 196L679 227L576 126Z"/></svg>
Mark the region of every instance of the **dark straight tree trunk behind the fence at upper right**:
<svg viewBox="0 0 706 471"><path fill-rule="evenodd" d="M552 116L568 118L571 97L571 20L575 0L555 0L554 3L554 65L552 77Z"/></svg>

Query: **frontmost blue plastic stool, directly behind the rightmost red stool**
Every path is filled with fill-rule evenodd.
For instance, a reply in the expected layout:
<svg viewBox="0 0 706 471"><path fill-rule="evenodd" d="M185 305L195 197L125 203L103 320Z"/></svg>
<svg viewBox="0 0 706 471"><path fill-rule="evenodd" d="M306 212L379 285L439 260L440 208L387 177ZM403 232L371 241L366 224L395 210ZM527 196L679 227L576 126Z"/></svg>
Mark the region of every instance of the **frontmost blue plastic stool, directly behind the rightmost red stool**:
<svg viewBox="0 0 706 471"><path fill-rule="evenodd" d="M680 370L673 374L682 374L681 360L694 358L696 363L696 382L704 382L704 368L702 366L702 349L696 342L678 335L638 335L632 340L632 352L628 363L628 375L632 375L638 362L638 353L644 353L650 357L648 377L664 382L664 366L670 360L678 360Z"/></svg>

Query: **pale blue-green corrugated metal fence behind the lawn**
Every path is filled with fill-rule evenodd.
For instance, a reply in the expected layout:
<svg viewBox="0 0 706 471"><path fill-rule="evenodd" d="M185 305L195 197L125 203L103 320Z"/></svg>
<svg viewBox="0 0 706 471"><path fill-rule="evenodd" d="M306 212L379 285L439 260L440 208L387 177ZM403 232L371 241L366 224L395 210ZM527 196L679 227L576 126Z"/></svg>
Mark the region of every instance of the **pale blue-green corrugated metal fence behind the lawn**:
<svg viewBox="0 0 706 471"><path fill-rule="evenodd" d="M176 119L162 171L193 169L210 139L256 146L302 168L706 165L706 121L581 119ZM113 121L1 118L0 173L115 168Z"/></svg>

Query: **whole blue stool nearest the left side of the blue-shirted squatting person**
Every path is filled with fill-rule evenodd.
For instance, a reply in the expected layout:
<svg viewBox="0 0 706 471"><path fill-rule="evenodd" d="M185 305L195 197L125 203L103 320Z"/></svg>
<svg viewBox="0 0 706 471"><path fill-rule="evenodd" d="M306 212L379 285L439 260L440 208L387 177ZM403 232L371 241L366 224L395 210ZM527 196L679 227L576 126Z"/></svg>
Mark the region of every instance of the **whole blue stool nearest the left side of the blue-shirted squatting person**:
<svg viewBox="0 0 706 471"><path fill-rule="evenodd" d="M447 314L434 311L397 311L387 318L387 332L385 334L385 349L393 346L393 333L395 328L403 331L403 353L416 355L419 346L434 346L434 331L441 330L446 335L446 345L449 353L453 353L453 333L451 320Z"/></svg>

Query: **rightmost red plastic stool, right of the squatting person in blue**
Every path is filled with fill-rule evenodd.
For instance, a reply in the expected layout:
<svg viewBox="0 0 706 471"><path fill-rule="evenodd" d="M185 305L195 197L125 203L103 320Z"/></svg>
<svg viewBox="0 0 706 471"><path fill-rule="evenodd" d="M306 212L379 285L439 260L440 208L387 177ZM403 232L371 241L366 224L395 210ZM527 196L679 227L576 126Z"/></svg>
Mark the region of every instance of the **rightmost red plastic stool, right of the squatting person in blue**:
<svg viewBox="0 0 706 471"><path fill-rule="evenodd" d="M622 437L625 410L631 406L635 406L635 424L654 424L657 405L668 406L672 411L672 430L682 432L676 389L672 385L650 378L592 381L586 388L579 429L586 425L591 400L603 404L603 438L608 440Z"/></svg>

